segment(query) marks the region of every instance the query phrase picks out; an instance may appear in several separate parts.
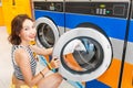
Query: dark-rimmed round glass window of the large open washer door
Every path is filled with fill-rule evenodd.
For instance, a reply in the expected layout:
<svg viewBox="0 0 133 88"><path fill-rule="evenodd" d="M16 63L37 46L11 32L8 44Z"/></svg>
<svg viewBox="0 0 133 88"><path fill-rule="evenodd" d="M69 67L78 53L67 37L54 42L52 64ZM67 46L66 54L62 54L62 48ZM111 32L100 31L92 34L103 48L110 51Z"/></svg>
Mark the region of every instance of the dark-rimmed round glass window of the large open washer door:
<svg viewBox="0 0 133 88"><path fill-rule="evenodd" d="M80 36L64 45L61 56L65 69L73 74L88 74L102 64L104 54L99 42L91 37Z"/></svg>

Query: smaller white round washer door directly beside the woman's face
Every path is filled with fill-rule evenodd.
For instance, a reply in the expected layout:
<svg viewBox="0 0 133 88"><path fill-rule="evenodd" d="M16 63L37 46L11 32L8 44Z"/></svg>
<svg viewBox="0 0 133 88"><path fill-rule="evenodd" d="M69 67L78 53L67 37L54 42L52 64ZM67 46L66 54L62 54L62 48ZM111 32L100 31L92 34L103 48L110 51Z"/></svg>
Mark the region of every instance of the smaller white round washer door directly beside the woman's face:
<svg viewBox="0 0 133 88"><path fill-rule="evenodd" d="M40 47L52 47L59 38L59 30L52 20L39 18L35 21L37 44Z"/></svg>

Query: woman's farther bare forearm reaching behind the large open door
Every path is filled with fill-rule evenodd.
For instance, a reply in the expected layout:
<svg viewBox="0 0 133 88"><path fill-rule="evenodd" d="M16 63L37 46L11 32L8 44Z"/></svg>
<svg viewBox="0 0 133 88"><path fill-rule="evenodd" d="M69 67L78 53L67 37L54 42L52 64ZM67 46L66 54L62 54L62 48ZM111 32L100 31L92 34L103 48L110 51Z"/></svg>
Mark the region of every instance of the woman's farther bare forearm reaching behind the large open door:
<svg viewBox="0 0 133 88"><path fill-rule="evenodd" d="M53 47L44 48L44 47L39 47L37 45L30 45L30 48L39 55L51 55L53 50Z"/></svg>

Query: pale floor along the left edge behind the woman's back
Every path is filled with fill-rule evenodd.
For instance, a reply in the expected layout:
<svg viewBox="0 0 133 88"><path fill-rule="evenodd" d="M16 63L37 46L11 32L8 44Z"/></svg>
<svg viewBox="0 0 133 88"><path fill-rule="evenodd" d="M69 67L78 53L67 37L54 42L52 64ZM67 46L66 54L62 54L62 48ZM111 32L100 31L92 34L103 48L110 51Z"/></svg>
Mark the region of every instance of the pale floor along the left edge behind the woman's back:
<svg viewBox="0 0 133 88"><path fill-rule="evenodd" d="M0 88L9 88L12 75L10 58L11 45L8 42L6 26L0 26Z"/></svg>

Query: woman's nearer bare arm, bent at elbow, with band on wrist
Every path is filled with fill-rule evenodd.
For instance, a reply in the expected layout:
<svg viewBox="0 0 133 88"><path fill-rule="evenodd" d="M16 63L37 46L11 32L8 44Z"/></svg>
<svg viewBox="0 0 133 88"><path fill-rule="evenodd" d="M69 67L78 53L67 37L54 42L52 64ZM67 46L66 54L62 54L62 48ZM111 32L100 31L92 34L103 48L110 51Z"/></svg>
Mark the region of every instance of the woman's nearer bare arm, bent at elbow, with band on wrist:
<svg viewBox="0 0 133 88"><path fill-rule="evenodd" d="M17 65L20 67L22 72L24 81L29 87L37 85L39 80L43 78L43 75L45 75L49 72L49 68L45 67L42 70L43 75L39 73L38 75L32 76L29 54L22 48L16 51L14 57L16 57Z"/></svg>

